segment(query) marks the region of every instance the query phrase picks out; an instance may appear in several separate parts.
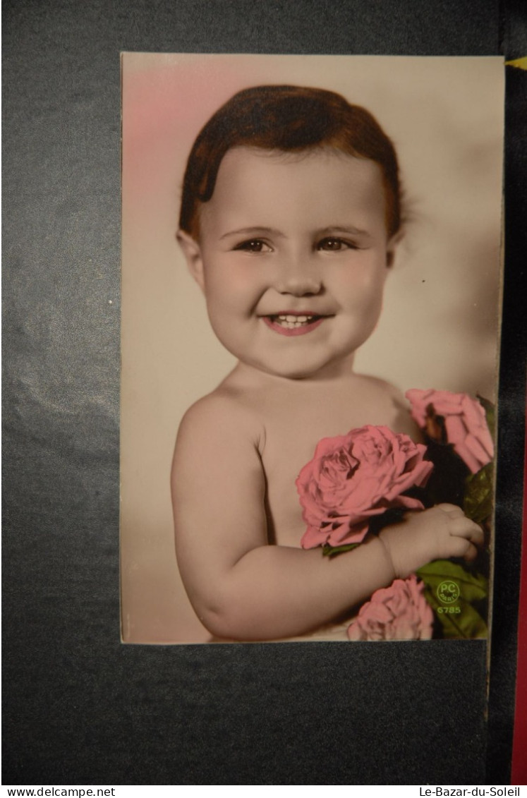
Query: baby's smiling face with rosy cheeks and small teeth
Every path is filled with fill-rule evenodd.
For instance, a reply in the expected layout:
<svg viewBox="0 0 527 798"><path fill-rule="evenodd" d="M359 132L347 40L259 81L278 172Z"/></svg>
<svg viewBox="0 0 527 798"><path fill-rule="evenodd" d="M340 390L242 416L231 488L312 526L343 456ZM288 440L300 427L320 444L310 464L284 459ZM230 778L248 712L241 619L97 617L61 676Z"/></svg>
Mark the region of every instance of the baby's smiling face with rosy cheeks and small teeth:
<svg viewBox="0 0 527 798"><path fill-rule="evenodd" d="M382 306L385 203L371 160L230 150L186 247L220 342L281 377L349 369Z"/></svg>

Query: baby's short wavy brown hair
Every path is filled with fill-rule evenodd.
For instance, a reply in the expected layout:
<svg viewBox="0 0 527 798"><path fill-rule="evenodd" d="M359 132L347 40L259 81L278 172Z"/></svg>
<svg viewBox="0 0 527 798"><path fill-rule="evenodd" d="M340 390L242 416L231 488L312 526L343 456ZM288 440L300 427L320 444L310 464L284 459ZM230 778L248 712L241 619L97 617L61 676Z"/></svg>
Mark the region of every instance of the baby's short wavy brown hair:
<svg viewBox="0 0 527 798"><path fill-rule="evenodd" d="M373 160L382 170L388 234L394 235L401 226L397 155L372 114L326 89L269 85L236 93L208 120L192 146L180 228L194 238L199 235L199 205L212 198L221 161L234 147L282 152L327 147Z"/></svg>

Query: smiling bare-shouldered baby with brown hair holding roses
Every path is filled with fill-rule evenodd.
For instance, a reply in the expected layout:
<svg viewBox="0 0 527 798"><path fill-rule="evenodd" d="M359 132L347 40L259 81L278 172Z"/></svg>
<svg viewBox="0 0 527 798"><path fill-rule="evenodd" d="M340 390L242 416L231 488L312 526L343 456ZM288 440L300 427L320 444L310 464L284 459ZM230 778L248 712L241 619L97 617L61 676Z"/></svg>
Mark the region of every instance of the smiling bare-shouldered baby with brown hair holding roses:
<svg viewBox="0 0 527 798"><path fill-rule="evenodd" d="M476 555L480 527L449 504L335 558L300 547L295 479L320 439L367 424L418 439L398 391L353 368L401 235L393 144L338 94L246 89L196 139L178 240L238 363L181 422L172 500L184 586L216 638L308 634L432 559Z"/></svg>

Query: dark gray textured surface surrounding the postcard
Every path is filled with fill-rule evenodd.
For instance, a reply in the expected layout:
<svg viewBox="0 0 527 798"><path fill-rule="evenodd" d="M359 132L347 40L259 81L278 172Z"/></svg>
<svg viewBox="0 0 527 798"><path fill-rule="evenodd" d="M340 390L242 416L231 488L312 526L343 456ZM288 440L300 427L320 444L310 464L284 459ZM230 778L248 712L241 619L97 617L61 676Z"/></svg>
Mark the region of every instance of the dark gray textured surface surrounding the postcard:
<svg viewBox="0 0 527 798"><path fill-rule="evenodd" d="M353 661L331 644L121 646L119 52L518 57L524 23L516 4L493 0L4 3L4 784L505 782L525 79L508 85L498 476L508 543L497 551L485 775L483 642L355 646Z"/></svg>

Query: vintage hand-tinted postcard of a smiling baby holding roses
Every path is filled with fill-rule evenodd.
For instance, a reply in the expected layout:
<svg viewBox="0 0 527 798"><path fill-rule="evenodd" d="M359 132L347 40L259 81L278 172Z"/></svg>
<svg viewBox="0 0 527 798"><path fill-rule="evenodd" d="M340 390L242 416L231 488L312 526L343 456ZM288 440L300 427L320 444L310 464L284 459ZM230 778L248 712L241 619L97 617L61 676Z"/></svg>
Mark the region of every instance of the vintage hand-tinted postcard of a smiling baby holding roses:
<svg viewBox="0 0 527 798"><path fill-rule="evenodd" d="M503 100L122 55L123 642L486 637Z"/></svg>

